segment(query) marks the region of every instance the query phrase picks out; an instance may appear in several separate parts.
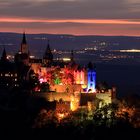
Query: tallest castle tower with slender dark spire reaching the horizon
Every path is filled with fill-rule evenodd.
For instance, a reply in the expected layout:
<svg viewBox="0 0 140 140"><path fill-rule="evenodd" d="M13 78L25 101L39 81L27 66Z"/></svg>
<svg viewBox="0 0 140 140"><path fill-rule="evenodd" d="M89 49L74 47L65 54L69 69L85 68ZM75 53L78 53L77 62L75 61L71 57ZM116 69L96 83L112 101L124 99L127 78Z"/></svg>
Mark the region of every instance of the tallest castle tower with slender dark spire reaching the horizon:
<svg viewBox="0 0 140 140"><path fill-rule="evenodd" d="M21 42L21 53L27 53L28 54L28 45L27 45L27 41L26 41L26 35L25 32L23 33L23 37L22 37L22 42Z"/></svg>

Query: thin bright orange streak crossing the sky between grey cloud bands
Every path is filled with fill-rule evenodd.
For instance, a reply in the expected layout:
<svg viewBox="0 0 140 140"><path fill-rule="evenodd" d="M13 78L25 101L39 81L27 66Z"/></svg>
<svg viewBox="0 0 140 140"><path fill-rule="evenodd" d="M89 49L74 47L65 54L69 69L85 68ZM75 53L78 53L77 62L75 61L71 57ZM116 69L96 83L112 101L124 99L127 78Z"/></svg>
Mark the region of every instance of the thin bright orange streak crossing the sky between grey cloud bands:
<svg viewBox="0 0 140 140"><path fill-rule="evenodd" d="M140 21L129 19L29 19L29 18L0 18L0 22L11 23L84 23L84 24L134 24L140 25Z"/></svg>

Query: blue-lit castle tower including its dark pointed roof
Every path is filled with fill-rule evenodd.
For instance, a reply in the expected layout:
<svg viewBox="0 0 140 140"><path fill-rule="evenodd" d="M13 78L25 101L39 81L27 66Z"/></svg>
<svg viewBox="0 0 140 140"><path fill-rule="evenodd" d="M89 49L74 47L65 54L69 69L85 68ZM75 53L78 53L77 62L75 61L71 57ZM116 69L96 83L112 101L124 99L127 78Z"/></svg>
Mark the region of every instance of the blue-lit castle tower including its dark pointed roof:
<svg viewBox="0 0 140 140"><path fill-rule="evenodd" d="M95 86L96 86L96 72L93 68L92 63L90 62L88 64L88 71L87 71L87 79L88 79L88 84L87 84L87 91L88 92L95 92Z"/></svg>

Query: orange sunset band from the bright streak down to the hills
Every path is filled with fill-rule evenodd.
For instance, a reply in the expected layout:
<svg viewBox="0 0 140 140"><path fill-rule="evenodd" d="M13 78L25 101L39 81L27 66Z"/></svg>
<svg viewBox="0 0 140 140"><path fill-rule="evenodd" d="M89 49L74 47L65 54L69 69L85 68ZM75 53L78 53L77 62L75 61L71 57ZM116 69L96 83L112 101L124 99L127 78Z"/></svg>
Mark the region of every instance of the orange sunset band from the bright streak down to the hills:
<svg viewBox="0 0 140 140"><path fill-rule="evenodd" d="M28 25L26 26L26 23ZM37 23L32 26L32 23ZM43 25L40 25L44 23ZM48 25L46 23L49 23ZM52 23L52 25L51 25ZM55 24L53 24L55 23ZM57 23L78 23L78 25L59 25ZM49 33L72 35L124 35L140 36L140 20L132 19L36 19L1 17L0 32ZM50 26L51 25L51 26Z"/></svg>

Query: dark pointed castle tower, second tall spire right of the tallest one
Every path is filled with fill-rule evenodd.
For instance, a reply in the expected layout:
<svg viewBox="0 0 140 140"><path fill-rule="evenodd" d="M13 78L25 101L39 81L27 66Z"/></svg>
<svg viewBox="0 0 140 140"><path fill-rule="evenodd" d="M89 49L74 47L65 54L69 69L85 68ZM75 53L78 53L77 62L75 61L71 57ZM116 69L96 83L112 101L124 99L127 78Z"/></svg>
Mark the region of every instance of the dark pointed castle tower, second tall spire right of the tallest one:
<svg viewBox="0 0 140 140"><path fill-rule="evenodd" d="M44 56L43 56L43 64L45 66L51 66L52 62L53 62L53 54L51 52L50 44L48 41L48 45L47 45L47 48L46 48Z"/></svg>

